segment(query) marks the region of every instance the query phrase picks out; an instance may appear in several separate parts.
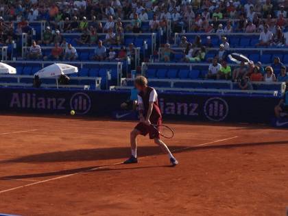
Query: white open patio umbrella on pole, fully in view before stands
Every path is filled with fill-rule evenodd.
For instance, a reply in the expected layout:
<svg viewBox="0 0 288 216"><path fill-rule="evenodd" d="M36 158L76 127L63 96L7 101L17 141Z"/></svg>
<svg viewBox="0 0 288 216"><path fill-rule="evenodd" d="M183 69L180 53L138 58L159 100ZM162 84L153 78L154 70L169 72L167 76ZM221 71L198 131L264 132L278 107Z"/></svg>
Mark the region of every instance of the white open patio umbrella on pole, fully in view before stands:
<svg viewBox="0 0 288 216"><path fill-rule="evenodd" d="M70 64L56 63L56 64L51 64L48 67L45 67L44 69L41 69L34 75L38 75L39 78L44 78L44 77L56 77L56 76L63 75L63 74L67 75L67 74L77 73L77 72L78 72L78 68L75 66L72 66ZM58 88L57 79L56 79L56 85Z"/></svg>

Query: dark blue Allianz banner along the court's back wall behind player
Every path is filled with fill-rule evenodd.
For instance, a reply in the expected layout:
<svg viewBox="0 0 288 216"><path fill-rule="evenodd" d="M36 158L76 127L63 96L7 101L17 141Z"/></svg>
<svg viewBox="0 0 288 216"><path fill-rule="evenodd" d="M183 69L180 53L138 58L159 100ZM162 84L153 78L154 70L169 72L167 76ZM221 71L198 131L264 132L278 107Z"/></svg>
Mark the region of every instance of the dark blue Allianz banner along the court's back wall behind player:
<svg viewBox="0 0 288 216"><path fill-rule="evenodd" d="M35 88L0 88L2 112L110 116L129 98L118 91L70 91ZM159 93L164 119L187 121L269 122L278 97Z"/></svg>

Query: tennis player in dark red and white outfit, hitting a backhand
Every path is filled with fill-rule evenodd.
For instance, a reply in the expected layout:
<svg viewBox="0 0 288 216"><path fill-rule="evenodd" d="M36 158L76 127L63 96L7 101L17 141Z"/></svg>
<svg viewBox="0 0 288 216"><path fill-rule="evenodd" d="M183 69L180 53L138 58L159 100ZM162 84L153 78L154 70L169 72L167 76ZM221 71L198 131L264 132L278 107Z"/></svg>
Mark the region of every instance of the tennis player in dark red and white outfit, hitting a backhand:
<svg viewBox="0 0 288 216"><path fill-rule="evenodd" d="M163 152L169 156L170 163L174 166L177 165L178 161L171 154L167 145L161 141L158 130L153 126L162 124L162 116L155 89L147 86L147 79L143 76L136 77L134 85L139 91L138 106L140 122L130 133L132 156L128 160L125 160L124 163L138 163L136 137L138 135L146 136L149 134L149 139L154 139L154 143L159 145Z"/></svg>

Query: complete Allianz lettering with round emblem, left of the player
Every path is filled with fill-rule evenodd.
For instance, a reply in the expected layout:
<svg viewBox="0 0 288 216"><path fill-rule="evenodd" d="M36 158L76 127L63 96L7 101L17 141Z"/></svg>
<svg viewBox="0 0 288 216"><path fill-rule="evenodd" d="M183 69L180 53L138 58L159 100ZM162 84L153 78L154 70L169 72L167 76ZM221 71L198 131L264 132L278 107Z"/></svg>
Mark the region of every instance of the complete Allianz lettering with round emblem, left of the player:
<svg viewBox="0 0 288 216"><path fill-rule="evenodd" d="M84 115L91 109L91 99L86 93L75 93L69 97L44 97L36 93L12 93L10 108L32 108L44 110L75 110Z"/></svg>

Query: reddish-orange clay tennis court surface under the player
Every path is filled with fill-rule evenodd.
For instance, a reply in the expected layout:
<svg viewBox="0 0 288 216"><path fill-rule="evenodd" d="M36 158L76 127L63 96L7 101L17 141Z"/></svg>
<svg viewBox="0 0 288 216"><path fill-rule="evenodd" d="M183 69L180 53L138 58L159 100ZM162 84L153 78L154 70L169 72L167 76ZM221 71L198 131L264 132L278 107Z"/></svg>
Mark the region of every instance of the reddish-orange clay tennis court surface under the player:
<svg viewBox="0 0 288 216"><path fill-rule="evenodd" d="M0 212L15 215L285 215L287 130L168 123L180 165L128 121L0 117Z"/></svg>

